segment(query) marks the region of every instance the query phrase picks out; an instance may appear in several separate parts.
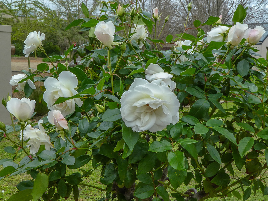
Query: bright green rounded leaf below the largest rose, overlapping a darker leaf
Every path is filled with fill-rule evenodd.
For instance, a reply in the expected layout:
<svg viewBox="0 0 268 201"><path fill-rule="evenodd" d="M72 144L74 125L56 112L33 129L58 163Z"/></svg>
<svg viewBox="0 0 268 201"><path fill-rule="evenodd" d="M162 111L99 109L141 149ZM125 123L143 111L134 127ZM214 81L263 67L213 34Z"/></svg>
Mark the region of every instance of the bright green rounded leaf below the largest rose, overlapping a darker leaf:
<svg viewBox="0 0 268 201"><path fill-rule="evenodd" d="M181 151L171 151L168 153L169 165L176 170L185 170L184 155Z"/></svg>

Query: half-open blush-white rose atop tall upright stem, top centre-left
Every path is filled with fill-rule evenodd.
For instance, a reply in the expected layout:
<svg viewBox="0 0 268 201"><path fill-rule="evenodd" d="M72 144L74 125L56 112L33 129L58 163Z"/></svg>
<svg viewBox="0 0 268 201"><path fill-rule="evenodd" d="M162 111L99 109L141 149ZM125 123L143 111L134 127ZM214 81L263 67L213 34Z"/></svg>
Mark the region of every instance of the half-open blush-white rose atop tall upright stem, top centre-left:
<svg viewBox="0 0 268 201"><path fill-rule="evenodd" d="M101 41L106 47L110 47L114 40L114 24L109 22L101 21L96 25L95 35L99 41Z"/></svg>

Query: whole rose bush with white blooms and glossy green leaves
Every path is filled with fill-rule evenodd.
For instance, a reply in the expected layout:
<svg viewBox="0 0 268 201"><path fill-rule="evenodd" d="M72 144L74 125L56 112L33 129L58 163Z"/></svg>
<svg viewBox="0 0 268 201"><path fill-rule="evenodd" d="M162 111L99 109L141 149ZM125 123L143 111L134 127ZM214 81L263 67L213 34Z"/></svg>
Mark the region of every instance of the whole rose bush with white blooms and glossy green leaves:
<svg viewBox="0 0 268 201"><path fill-rule="evenodd" d="M196 20L196 36L186 23L184 33L163 41L154 33L164 20L158 8L147 13L135 4L102 3L97 19L83 5L85 18L66 27L87 31L87 43L52 56L56 65L39 64L10 82L27 97L32 81L44 82L40 102L51 111L38 129L30 120L35 102L2 101L18 125L0 122L0 140L12 143L4 150L14 154L0 160L0 179L32 177L9 200L55 201L72 193L77 201L78 187L98 167L107 186L98 188L106 191L101 200L246 200L258 189L267 195L268 65L252 46L263 28L247 29L246 9L238 5L233 25L220 17ZM204 33L204 25L211 31ZM44 51L44 38L30 33L25 54ZM72 50L77 65L70 67L60 61ZM25 157L14 162L21 153Z"/></svg>

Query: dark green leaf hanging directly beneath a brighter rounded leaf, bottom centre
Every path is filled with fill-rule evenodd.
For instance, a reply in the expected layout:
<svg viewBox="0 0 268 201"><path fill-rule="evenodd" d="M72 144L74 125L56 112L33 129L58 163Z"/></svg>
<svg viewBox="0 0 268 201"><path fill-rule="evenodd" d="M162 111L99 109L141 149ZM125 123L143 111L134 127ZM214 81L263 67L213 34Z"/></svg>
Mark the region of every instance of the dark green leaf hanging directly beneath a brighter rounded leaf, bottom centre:
<svg viewBox="0 0 268 201"><path fill-rule="evenodd" d="M187 176L186 171L176 170L172 168L170 165L168 166L169 181L174 189L177 189L183 183L186 176Z"/></svg>

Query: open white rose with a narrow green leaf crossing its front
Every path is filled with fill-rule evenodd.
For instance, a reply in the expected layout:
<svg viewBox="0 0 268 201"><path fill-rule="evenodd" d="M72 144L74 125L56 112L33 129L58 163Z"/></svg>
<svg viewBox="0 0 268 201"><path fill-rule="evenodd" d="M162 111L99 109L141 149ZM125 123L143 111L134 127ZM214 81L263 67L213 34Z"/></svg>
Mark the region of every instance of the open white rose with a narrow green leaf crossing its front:
<svg viewBox="0 0 268 201"><path fill-rule="evenodd" d="M49 77L45 80L44 86L46 91L44 92L43 98L47 103L47 107L50 110L61 111L62 116L66 116L75 111L75 103L81 107L83 102L80 98L70 99L63 103L53 105L59 97L70 97L78 94L75 91L75 87L78 85L78 80L75 74L69 71L62 71L59 73L58 80L54 77Z"/></svg>

